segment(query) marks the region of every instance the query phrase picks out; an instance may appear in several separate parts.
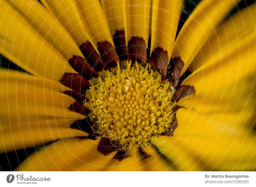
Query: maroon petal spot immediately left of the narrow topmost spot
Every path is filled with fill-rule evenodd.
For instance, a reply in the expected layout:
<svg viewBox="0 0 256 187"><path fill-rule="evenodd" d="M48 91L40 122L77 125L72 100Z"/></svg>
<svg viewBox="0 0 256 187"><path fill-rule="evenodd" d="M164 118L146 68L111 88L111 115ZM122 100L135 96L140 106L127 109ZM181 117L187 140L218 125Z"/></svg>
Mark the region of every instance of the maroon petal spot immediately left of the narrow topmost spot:
<svg viewBox="0 0 256 187"><path fill-rule="evenodd" d="M98 42L97 49L100 52L100 57L104 62L104 69L109 69L110 67L116 67L117 61L120 62L116 54L115 47L108 41Z"/></svg>

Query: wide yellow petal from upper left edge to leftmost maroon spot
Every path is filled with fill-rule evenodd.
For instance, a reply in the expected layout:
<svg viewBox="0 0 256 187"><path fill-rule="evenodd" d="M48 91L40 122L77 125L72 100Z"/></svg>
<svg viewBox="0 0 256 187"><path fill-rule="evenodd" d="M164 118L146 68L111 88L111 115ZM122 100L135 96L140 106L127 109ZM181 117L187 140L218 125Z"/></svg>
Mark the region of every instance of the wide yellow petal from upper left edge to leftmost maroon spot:
<svg viewBox="0 0 256 187"><path fill-rule="evenodd" d="M75 72L58 51L6 1L0 6L2 54L26 71L59 82L64 72Z"/></svg>

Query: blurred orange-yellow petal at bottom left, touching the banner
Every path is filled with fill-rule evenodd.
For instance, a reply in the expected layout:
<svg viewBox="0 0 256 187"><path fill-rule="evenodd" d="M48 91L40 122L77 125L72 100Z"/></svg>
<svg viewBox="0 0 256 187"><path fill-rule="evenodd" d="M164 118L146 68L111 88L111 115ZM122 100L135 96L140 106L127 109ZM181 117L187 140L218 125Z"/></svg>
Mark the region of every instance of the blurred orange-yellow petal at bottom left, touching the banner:
<svg viewBox="0 0 256 187"><path fill-rule="evenodd" d="M107 156L97 151L98 140L70 138L48 145L30 155L18 171L101 171L115 153Z"/></svg>

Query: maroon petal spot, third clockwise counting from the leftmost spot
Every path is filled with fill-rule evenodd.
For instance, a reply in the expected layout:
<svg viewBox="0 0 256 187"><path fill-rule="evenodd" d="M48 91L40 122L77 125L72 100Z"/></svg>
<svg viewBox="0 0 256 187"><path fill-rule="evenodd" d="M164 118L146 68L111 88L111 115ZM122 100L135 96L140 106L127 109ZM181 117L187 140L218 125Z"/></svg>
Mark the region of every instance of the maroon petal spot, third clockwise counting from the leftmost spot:
<svg viewBox="0 0 256 187"><path fill-rule="evenodd" d="M93 69L95 69L97 72L103 69L104 63L100 58L99 53L92 46L91 42L87 41L80 45L79 48Z"/></svg>

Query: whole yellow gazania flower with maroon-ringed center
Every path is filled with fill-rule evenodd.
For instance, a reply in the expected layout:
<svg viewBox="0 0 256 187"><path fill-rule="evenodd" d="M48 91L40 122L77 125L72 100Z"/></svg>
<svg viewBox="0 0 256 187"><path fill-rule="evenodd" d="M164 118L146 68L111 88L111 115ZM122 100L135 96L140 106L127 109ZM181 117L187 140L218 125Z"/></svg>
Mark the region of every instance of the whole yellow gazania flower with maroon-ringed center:
<svg viewBox="0 0 256 187"><path fill-rule="evenodd" d="M256 4L238 3L2 1L1 55L25 72L1 69L1 152L36 147L16 170L255 170Z"/></svg>

